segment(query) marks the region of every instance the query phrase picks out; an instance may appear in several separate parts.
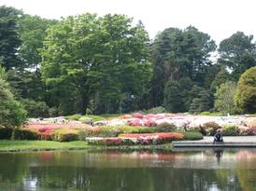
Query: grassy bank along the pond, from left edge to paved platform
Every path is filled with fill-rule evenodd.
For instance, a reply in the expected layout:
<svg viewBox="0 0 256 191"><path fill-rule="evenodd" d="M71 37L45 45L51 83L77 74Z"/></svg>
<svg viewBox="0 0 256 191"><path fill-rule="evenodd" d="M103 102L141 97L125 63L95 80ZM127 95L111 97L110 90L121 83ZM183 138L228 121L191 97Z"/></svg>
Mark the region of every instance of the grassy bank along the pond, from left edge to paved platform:
<svg viewBox="0 0 256 191"><path fill-rule="evenodd" d="M171 150L172 143L158 144L158 145L122 145L122 146L94 146L88 145L86 142L76 141L68 143L60 143L54 141L0 141L0 152L36 152L36 151L64 151L64 150L156 150L164 149Z"/></svg>

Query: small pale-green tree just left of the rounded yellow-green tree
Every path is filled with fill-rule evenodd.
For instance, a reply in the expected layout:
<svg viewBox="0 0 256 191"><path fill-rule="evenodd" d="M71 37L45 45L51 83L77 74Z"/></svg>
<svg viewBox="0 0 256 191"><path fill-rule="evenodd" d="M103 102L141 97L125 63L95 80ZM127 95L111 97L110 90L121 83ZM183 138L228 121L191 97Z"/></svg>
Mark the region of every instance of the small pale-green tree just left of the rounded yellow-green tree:
<svg viewBox="0 0 256 191"><path fill-rule="evenodd" d="M227 81L217 88L215 95L214 106L222 114L235 113L235 90L236 83Z"/></svg>

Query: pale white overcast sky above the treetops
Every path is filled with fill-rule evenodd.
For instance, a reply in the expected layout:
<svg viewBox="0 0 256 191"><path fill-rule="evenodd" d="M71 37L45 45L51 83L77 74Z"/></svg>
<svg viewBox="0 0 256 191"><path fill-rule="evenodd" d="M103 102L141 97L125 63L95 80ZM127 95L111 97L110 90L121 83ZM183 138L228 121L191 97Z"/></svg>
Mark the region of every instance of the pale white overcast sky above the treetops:
<svg viewBox="0 0 256 191"><path fill-rule="evenodd" d="M0 5L49 19L121 13L142 20L151 39L164 28L189 25L217 43L236 31L256 36L256 0L0 0Z"/></svg>

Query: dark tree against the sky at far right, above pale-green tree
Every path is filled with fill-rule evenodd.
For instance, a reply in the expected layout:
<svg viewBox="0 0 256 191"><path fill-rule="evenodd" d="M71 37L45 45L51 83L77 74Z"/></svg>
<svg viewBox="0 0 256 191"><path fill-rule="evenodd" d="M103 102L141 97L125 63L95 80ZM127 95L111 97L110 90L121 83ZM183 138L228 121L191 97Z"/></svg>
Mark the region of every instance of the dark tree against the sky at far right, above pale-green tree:
<svg viewBox="0 0 256 191"><path fill-rule="evenodd" d="M256 64L256 45L253 43L253 35L242 32L233 34L220 42L219 53L219 62L231 69L235 81Z"/></svg>

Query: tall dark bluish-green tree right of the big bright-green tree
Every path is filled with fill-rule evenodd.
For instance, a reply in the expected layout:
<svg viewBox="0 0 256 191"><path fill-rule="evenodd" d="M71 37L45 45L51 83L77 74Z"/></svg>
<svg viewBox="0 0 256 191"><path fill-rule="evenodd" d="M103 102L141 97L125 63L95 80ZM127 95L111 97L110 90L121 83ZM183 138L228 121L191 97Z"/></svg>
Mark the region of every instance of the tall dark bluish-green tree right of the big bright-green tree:
<svg viewBox="0 0 256 191"><path fill-rule="evenodd" d="M151 80L152 102L161 105L164 86L169 80L190 77L203 86L207 68L211 65L210 53L216 45L208 34L190 26L185 30L165 29L152 45L153 76Z"/></svg>

